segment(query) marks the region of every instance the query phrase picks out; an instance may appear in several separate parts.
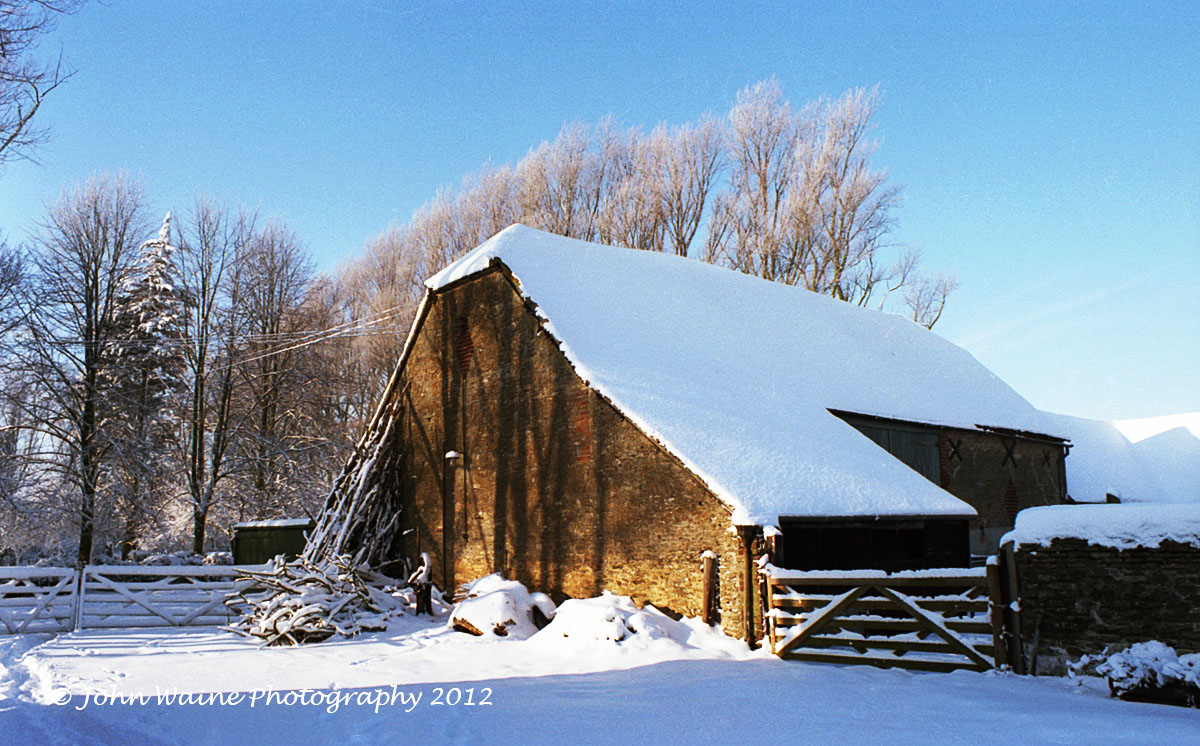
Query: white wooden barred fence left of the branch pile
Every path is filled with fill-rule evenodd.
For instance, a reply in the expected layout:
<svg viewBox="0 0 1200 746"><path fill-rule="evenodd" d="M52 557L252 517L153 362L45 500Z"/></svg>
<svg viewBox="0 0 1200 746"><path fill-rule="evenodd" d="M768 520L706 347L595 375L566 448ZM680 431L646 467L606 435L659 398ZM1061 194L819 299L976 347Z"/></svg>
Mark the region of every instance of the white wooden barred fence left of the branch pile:
<svg viewBox="0 0 1200 746"><path fill-rule="evenodd" d="M258 568L258 567L256 567ZM90 565L0 567L0 632L217 626L226 598L251 584L244 567Z"/></svg>

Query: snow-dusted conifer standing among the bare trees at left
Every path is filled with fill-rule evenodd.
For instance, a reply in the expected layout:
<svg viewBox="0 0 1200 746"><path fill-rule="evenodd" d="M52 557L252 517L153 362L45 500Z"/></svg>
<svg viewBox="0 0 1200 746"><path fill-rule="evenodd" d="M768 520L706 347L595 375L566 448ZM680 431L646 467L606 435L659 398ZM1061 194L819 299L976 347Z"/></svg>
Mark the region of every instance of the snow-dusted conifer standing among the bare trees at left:
<svg viewBox="0 0 1200 746"><path fill-rule="evenodd" d="M170 213L145 241L113 312L103 387L112 410L104 437L124 521L121 553L156 523L170 491L184 377L184 293L175 273Z"/></svg>

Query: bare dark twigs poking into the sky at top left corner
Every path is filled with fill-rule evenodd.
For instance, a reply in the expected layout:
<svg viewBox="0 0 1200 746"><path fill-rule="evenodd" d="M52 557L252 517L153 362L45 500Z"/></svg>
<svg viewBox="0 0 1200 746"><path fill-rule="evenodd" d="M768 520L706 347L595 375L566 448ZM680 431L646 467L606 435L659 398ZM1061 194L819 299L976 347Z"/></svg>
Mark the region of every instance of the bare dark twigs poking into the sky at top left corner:
<svg viewBox="0 0 1200 746"><path fill-rule="evenodd" d="M78 6L77 0L0 0L0 164L29 157L29 150L46 138L34 116L72 71L61 55L42 62L34 53L55 17Z"/></svg>

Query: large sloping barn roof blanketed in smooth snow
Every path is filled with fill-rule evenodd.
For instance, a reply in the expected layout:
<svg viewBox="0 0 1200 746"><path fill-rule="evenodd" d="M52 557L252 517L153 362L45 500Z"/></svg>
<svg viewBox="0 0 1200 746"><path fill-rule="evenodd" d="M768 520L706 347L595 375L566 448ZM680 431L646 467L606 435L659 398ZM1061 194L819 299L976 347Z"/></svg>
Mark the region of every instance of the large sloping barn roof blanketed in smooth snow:
<svg viewBox="0 0 1200 746"><path fill-rule="evenodd" d="M898 315L670 254L512 225L433 277L499 261L599 393L734 511L973 516L829 410L1048 432L965 350Z"/></svg>

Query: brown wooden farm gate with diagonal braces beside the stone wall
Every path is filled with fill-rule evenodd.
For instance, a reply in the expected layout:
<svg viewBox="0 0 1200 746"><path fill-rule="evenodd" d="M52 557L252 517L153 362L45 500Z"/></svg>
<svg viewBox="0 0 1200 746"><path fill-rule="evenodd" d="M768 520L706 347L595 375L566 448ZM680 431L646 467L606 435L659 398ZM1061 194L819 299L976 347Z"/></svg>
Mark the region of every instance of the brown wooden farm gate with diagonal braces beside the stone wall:
<svg viewBox="0 0 1200 746"><path fill-rule="evenodd" d="M994 566L992 577L984 567L761 572L780 657L940 672L1007 662L1000 604L989 602Z"/></svg>

